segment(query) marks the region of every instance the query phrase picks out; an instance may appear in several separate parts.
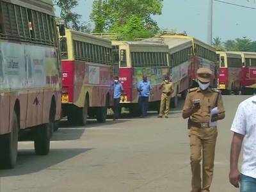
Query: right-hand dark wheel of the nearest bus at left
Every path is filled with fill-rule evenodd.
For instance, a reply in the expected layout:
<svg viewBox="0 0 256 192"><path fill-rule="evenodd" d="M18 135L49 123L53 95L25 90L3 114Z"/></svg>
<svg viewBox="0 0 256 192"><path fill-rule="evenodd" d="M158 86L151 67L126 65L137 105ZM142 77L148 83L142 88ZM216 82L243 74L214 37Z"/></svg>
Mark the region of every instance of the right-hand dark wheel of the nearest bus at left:
<svg viewBox="0 0 256 192"><path fill-rule="evenodd" d="M51 134L52 134L51 124L39 125L36 128L36 135L35 135L35 142L34 142L36 155L45 156L49 154Z"/></svg>

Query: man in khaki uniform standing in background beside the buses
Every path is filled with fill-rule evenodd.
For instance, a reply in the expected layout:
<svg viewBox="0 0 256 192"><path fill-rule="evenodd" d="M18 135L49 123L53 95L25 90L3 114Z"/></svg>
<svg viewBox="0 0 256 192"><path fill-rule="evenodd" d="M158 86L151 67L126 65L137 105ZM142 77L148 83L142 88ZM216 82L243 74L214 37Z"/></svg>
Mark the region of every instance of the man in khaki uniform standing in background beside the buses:
<svg viewBox="0 0 256 192"><path fill-rule="evenodd" d="M165 118L168 118L170 111L170 100L173 93L173 84L170 82L169 76L164 77L164 81L161 84L160 90L162 89L161 95L161 105L159 110L159 118L162 118L165 115Z"/></svg>

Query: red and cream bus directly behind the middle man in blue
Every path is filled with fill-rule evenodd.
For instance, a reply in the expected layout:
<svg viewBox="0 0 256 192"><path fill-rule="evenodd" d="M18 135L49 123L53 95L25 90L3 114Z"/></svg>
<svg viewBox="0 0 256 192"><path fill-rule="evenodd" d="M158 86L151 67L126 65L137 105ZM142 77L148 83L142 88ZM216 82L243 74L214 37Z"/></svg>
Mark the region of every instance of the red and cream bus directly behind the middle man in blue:
<svg viewBox="0 0 256 192"><path fill-rule="evenodd" d="M129 108L133 115L139 114L137 86L143 75L152 84L149 108L159 110L163 76L170 76L168 46L154 42L112 42L119 48L119 74L124 87L121 106Z"/></svg>

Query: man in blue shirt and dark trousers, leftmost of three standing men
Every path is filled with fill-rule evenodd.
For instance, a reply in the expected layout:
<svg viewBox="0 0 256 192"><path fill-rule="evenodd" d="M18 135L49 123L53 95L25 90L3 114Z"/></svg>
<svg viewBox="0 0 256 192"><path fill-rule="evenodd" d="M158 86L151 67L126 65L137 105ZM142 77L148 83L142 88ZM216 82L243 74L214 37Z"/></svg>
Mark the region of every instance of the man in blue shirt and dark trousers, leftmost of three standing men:
<svg viewBox="0 0 256 192"><path fill-rule="evenodd" d="M119 77L115 77L114 79L114 98L113 98L113 108L114 108L114 121L118 120L120 116L120 97L124 93L124 88L122 86L122 83L119 82Z"/></svg>

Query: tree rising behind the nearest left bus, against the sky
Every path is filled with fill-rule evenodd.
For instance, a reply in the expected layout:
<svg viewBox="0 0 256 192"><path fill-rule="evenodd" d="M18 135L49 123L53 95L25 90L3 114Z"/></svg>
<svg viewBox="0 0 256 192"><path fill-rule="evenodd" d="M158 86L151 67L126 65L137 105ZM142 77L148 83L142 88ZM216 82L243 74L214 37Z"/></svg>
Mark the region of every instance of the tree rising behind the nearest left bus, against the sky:
<svg viewBox="0 0 256 192"><path fill-rule="evenodd" d="M60 17L64 20L66 28L83 32L90 31L90 24L81 22L81 15L73 11L78 5L77 0L54 0L54 3L61 10Z"/></svg>

